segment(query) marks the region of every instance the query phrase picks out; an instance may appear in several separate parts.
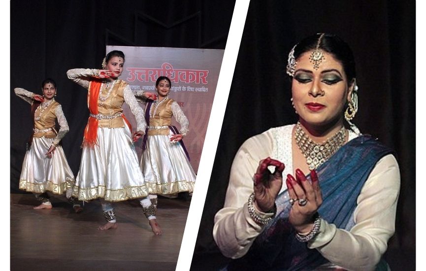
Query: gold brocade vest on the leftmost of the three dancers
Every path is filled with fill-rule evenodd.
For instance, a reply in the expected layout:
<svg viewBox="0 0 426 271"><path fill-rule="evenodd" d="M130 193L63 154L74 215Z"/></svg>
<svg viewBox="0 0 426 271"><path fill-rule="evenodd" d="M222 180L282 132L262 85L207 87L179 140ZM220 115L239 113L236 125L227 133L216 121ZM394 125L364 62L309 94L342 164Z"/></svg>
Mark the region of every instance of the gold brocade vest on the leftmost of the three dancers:
<svg viewBox="0 0 426 271"><path fill-rule="evenodd" d="M55 120L56 120L56 107L58 107L59 102L53 101L47 108L41 113L40 119L34 119L34 128L38 130L45 130L52 128L52 130L47 132L38 132L33 134L33 137L46 137L46 138L55 138L56 130L55 130ZM34 116L38 117L40 115L40 109L37 109L34 112Z"/></svg>

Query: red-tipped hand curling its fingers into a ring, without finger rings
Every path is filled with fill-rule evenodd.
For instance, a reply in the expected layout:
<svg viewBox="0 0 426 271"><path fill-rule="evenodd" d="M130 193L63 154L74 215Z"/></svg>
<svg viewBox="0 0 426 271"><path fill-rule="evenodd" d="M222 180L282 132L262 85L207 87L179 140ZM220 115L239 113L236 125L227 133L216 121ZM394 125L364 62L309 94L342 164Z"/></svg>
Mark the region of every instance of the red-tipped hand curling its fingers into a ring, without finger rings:
<svg viewBox="0 0 426 271"><path fill-rule="evenodd" d="M275 167L273 173L269 171L269 166ZM282 173L284 168L283 163L270 157L261 160L259 163L259 167L253 176L255 204L258 210L268 212L273 209L275 199L283 184Z"/></svg>

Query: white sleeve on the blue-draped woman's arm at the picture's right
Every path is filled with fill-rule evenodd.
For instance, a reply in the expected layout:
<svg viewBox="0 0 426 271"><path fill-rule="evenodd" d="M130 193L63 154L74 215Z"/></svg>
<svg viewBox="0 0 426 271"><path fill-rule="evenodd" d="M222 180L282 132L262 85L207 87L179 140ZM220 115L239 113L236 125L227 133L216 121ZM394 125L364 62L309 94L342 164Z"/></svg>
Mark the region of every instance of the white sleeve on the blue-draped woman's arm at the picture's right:
<svg viewBox="0 0 426 271"><path fill-rule="evenodd" d="M395 232L400 176L393 155L377 162L362 187L348 232L321 221L320 233L308 242L331 263L348 270L374 270Z"/></svg>

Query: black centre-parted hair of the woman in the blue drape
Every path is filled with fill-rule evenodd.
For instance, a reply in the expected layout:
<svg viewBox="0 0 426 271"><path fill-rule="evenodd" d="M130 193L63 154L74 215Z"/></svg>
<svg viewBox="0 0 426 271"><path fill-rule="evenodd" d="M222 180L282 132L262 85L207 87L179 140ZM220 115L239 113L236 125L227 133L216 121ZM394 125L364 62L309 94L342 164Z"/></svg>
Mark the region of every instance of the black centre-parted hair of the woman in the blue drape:
<svg viewBox="0 0 426 271"><path fill-rule="evenodd" d="M318 39L323 33L318 33L302 39L295 47L295 59L297 60L303 53L314 50L317 47ZM356 78L355 59L349 45L335 34L325 33L318 46L319 49L333 55L336 61L342 64L348 78L348 84Z"/></svg>

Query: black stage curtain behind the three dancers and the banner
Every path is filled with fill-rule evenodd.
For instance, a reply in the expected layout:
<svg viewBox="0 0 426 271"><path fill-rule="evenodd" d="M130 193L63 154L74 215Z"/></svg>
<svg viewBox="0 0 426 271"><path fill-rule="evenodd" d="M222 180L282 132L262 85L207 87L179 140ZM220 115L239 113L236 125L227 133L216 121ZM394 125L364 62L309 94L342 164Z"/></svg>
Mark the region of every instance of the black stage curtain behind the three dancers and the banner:
<svg viewBox="0 0 426 271"><path fill-rule="evenodd" d="M69 133L63 147L77 175L87 124L87 91L66 77L70 68L100 68L105 45L225 49L235 1L10 1L10 187L18 181L32 133L30 105L13 89L41 93L57 82Z"/></svg>

